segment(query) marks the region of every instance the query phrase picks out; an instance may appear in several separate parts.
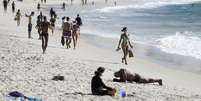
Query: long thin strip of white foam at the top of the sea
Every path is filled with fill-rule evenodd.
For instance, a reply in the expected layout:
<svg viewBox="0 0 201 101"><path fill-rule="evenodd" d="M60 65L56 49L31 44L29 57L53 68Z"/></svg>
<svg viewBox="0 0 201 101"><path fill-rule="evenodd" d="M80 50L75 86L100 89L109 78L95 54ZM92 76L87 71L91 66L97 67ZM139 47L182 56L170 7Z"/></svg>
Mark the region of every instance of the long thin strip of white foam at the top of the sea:
<svg viewBox="0 0 201 101"><path fill-rule="evenodd" d="M173 4L188 4L192 2L197 2L199 0L159 0L159 1L146 1L144 3L136 3L135 2L132 4L130 3L129 5L119 5L119 6L111 6L111 7L104 7L101 9L96 9L96 11L101 12L101 13L111 13L115 11L120 11L120 10L127 10L127 9L153 9L161 6L166 6L166 5L173 5Z"/></svg>

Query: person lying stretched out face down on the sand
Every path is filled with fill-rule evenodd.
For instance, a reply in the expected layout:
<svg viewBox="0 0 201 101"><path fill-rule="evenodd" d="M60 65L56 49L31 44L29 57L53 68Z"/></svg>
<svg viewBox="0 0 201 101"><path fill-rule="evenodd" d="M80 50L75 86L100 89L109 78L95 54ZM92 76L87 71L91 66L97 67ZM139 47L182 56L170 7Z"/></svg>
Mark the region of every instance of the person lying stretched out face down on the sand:
<svg viewBox="0 0 201 101"><path fill-rule="evenodd" d="M119 71L114 73L115 78L114 82L136 82L136 83L155 83L157 82L160 86L162 86L162 79L152 79L152 78L142 78L139 74L131 74L126 69L120 69Z"/></svg>

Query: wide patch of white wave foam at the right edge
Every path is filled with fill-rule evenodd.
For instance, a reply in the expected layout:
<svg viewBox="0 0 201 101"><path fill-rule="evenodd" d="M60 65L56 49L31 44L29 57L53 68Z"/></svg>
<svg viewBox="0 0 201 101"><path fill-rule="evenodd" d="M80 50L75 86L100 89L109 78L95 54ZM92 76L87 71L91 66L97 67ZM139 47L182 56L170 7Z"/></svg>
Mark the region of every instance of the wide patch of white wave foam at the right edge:
<svg viewBox="0 0 201 101"><path fill-rule="evenodd" d="M157 40L157 47L162 51L183 56L192 56L201 60L201 39L192 32L177 32Z"/></svg>

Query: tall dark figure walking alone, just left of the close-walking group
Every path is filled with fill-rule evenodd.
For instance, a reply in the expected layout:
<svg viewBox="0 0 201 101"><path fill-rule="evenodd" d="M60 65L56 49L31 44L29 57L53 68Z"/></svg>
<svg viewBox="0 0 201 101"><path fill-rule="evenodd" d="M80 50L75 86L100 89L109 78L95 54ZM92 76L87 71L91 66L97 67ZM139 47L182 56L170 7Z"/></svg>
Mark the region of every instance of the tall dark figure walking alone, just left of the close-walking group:
<svg viewBox="0 0 201 101"><path fill-rule="evenodd" d="M45 54L47 45L48 45L48 28L51 29L50 23L47 21L46 16L43 17L43 21L41 22L41 38L42 38L42 49L43 54Z"/></svg>

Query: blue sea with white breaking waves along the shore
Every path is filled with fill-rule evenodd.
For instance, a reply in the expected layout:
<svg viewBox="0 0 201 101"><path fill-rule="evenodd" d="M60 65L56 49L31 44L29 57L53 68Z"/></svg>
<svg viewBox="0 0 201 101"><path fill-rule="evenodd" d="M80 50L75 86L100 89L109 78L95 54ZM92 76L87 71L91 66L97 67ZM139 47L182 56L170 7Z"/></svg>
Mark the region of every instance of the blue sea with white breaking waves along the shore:
<svg viewBox="0 0 201 101"><path fill-rule="evenodd" d="M116 6L90 6L77 10L84 26L81 32L116 41L91 43L115 48L122 27L128 28L137 57L201 73L201 1L199 0L127 0ZM60 15L76 16L76 10ZM90 38L90 37L89 37ZM107 47L107 46L106 46Z"/></svg>

